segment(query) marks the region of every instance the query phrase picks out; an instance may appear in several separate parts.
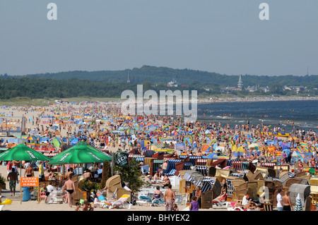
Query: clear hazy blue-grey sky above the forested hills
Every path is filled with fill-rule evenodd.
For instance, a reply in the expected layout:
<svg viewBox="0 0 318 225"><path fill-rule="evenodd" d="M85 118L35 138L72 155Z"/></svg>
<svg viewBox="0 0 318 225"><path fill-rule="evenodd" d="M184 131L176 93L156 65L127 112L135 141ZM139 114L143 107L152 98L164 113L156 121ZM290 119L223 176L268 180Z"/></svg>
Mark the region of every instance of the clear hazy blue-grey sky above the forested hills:
<svg viewBox="0 0 318 225"><path fill-rule="evenodd" d="M57 20L47 20L50 2ZM259 19L263 2L269 20ZM317 0L1 0L0 30L0 74L318 74Z"/></svg>

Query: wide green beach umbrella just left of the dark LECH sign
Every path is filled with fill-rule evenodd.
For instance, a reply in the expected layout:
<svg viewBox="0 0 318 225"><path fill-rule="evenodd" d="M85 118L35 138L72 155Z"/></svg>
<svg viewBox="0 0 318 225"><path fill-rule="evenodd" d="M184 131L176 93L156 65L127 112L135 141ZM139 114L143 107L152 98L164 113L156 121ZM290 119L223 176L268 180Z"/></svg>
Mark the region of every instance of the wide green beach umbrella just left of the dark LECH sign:
<svg viewBox="0 0 318 225"><path fill-rule="evenodd" d="M70 147L68 150L61 152L52 157L49 164L87 164L93 162L112 161L104 152L95 149L86 142L78 142L78 144Z"/></svg>

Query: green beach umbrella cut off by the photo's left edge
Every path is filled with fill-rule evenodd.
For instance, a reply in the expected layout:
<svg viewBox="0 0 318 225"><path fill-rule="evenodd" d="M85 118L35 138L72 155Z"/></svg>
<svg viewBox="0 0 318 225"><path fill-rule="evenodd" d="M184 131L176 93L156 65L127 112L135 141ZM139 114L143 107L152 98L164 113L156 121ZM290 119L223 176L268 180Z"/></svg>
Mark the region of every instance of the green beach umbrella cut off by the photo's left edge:
<svg viewBox="0 0 318 225"><path fill-rule="evenodd" d="M44 154L33 150L32 148L26 145L20 144L0 154L0 161L11 161L11 160L49 161L51 159L45 156Z"/></svg>

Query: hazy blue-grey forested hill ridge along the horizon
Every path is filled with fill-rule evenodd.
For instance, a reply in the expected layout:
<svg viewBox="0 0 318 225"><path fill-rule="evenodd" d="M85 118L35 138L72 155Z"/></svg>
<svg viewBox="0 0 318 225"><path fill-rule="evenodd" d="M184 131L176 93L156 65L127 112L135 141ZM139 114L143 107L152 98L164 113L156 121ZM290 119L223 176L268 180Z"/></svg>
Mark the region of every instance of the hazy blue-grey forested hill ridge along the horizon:
<svg viewBox="0 0 318 225"><path fill-rule="evenodd" d="M41 73L23 75L27 78L48 78L53 80L69 80L77 78L78 80L94 80L107 83L125 83L127 75L130 73L131 83L143 83L150 81L151 83L167 84L172 79L184 85L211 85L211 86L236 86L238 75L222 75L219 73L211 73L207 71L196 71L187 68L174 69L167 67L142 66L141 68L133 68L131 70L122 71L68 71L60 73ZM11 76L0 75L0 78ZM14 76L20 78L21 76ZM270 86L273 84L280 85L303 85L312 89L318 87L318 75L242 75L243 84L245 87L252 85Z"/></svg>

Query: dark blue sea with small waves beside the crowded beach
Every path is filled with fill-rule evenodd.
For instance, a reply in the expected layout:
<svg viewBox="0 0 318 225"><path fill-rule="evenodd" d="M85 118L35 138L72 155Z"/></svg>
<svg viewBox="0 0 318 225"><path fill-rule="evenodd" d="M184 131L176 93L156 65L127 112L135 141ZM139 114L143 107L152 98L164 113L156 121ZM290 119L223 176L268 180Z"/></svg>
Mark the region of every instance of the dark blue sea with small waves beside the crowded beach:
<svg viewBox="0 0 318 225"><path fill-rule="evenodd" d="M281 126L286 132L295 129L318 130L318 100L276 102L215 102L198 104L198 120L219 122L230 128L247 123L254 126ZM288 120L290 123L288 123Z"/></svg>

